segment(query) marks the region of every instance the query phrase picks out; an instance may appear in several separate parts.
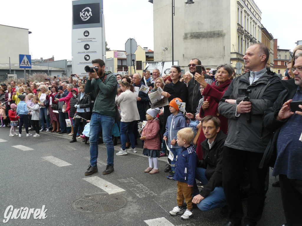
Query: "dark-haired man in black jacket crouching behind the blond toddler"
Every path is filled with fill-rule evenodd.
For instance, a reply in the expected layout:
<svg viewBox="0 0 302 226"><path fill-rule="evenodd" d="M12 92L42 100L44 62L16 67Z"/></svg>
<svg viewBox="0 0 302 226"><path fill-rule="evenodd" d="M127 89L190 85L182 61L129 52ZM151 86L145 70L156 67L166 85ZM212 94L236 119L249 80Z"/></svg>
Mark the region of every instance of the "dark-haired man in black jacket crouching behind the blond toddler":
<svg viewBox="0 0 302 226"><path fill-rule="evenodd" d="M193 203L202 211L221 208L226 205L222 187L222 155L226 135L220 131L220 120L208 115L201 120L204 136L207 138L202 145L202 160L197 159L195 178L204 184L199 194L194 183ZM197 195L196 195L197 194Z"/></svg>

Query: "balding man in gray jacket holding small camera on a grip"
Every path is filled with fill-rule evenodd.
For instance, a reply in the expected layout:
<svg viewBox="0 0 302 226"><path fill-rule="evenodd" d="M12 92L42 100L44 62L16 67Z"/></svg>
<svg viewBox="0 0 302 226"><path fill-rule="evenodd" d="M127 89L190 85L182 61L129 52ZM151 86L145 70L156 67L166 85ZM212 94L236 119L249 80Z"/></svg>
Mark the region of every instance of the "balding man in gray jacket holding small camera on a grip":
<svg viewBox="0 0 302 226"><path fill-rule="evenodd" d="M240 198L240 181L247 168L250 180L245 226L255 226L261 219L265 200L267 168L259 169L271 133L262 128L262 117L284 89L280 78L265 65L268 48L256 43L243 57L250 71L236 77L220 100L218 111L228 118L228 134L223 149L223 189L229 208L228 222L223 226L239 226L243 217ZM249 101L239 95L238 89L250 89ZM250 117L250 120L248 120Z"/></svg>

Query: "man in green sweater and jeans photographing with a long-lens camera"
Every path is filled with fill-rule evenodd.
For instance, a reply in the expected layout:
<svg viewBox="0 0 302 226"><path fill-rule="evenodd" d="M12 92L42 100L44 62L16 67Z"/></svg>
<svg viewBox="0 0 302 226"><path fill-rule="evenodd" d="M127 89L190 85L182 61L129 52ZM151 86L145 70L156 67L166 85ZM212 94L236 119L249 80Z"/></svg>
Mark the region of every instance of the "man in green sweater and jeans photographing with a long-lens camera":
<svg viewBox="0 0 302 226"><path fill-rule="evenodd" d="M103 141L107 148L107 166L103 174L114 171L114 146L112 129L115 118L115 97L117 95L117 79L111 71L105 72L105 63L101 59L92 60L88 80L85 84L85 93L95 92L95 104L90 121L90 165L85 175L98 172L98 137L102 130ZM97 70L96 70L97 69ZM86 69L85 69L86 70Z"/></svg>

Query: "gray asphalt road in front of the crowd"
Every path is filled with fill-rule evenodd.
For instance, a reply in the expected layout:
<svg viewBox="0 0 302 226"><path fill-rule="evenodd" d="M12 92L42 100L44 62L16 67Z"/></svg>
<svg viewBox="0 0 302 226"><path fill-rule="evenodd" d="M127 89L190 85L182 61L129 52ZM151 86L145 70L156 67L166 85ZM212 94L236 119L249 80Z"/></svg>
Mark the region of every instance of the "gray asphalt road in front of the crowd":
<svg viewBox="0 0 302 226"><path fill-rule="evenodd" d="M42 132L41 137L9 137L9 128L0 128L0 225L204 225L220 226L226 218L219 209L202 212L194 209L194 217L182 220L180 215L170 216L176 206L176 181L168 180L164 172L166 157L159 160L159 174L146 174L148 159L142 149L138 153L114 156L114 172L103 175L107 152L99 145L98 173L85 176L89 165L89 145L69 143L71 137ZM32 150L13 146L22 145ZM140 145L139 145L140 146ZM119 144L115 146L118 152ZM53 157L47 157L53 156ZM56 159L57 158L57 159ZM57 165L52 163L55 159ZM60 162L60 160L65 162ZM271 173L271 172L270 172ZM98 186L96 186L95 183ZM285 223L280 188L270 186L261 221L262 226L281 226ZM103 186L103 187L102 187ZM116 188L117 190L113 190ZM107 213L83 213L73 208L73 202L84 196L108 194L122 196L126 205ZM45 219L5 220L5 210L13 208L42 208ZM246 201L243 201L245 209Z"/></svg>

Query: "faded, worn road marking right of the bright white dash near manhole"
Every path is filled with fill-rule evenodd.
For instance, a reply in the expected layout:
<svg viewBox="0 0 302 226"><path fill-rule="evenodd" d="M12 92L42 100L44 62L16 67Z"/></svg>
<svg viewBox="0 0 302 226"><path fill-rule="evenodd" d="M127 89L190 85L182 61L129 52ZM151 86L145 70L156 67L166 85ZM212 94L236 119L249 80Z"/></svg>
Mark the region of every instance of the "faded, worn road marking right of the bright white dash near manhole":
<svg viewBox="0 0 302 226"><path fill-rule="evenodd" d="M135 180L133 177L120 179L118 181L122 182L127 188L129 188L129 190L133 191L133 193L139 198L156 195L156 193L154 193L151 189L141 184L138 180Z"/></svg>

